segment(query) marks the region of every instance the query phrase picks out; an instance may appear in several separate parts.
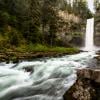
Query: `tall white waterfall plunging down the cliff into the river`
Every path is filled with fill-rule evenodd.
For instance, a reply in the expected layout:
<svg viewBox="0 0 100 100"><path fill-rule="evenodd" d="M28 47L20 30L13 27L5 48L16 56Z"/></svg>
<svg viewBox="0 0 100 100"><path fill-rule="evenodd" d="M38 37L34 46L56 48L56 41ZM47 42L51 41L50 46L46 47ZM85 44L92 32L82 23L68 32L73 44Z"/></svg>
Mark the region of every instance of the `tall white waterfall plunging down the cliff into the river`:
<svg viewBox="0 0 100 100"><path fill-rule="evenodd" d="M94 50L94 18L87 19L85 50Z"/></svg>

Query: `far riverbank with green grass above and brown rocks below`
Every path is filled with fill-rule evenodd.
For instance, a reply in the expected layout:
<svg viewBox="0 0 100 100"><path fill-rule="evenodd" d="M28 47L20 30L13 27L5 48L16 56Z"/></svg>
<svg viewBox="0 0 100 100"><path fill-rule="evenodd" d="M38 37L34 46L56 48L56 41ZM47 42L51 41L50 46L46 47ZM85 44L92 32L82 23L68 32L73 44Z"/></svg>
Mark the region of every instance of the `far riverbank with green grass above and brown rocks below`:
<svg viewBox="0 0 100 100"><path fill-rule="evenodd" d="M13 61L17 63L19 60L31 60L33 58L41 57L57 57L65 54L79 53L77 48L66 47L51 47L41 44L20 45L18 47L11 47L9 49L2 49L0 52L0 61Z"/></svg>

